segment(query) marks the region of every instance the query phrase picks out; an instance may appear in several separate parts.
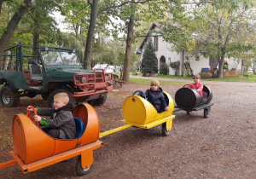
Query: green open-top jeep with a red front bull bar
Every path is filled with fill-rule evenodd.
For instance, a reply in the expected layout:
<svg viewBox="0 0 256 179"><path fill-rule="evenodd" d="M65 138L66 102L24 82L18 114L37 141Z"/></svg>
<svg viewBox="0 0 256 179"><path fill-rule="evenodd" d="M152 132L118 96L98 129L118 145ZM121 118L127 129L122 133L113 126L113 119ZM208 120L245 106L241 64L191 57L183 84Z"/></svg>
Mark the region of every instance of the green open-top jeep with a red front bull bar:
<svg viewBox="0 0 256 179"><path fill-rule="evenodd" d="M36 49L38 55L24 55L32 54L32 49ZM48 100L52 107L54 95L60 92L66 92L73 104L88 101L100 106L113 89L113 74L103 69L83 69L75 49L31 48L18 44L6 49L3 56L5 61L15 61L14 69L9 66L7 70L0 70L3 107L18 107L20 96L36 95Z"/></svg>

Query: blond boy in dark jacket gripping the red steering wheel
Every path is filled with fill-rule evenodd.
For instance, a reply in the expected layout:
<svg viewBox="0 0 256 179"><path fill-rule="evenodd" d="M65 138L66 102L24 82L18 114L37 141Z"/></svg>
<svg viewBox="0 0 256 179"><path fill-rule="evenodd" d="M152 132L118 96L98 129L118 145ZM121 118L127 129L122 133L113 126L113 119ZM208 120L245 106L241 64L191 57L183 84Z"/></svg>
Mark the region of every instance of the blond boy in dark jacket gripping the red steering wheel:
<svg viewBox="0 0 256 179"><path fill-rule="evenodd" d="M38 107L37 113L50 118L42 118L34 115L35 121L44 125L44 132L60 139L74 139L76 135L76 124L73 119L73 105L69 103L67 93L58 93L54 96L54 108ZM27 109L31 110L31 109Z"/></svg>

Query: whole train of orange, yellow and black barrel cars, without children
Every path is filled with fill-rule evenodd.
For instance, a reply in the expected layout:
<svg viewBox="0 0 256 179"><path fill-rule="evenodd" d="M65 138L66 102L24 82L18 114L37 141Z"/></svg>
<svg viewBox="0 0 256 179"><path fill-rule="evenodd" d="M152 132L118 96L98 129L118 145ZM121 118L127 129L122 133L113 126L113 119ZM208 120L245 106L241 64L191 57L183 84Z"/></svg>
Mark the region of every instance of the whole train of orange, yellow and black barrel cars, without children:
<svg viewBox="0 0 256 179"><path fill-rule="evenodd" d="M205 95L201 97L196 90L184 86L176 92L177 106L175 107L188 114L191 111L204 109L204 117L207 118L213 105L210 103L212 90L204 86L203 92ZM122 111L125 119L121 123L125 125L103 133L99 133L99 120L95 109L88 103L76 106L73 116L77 134L76 139L73 140L55 139L40 130L32 122L29 113L16 114L12 123L15 150L9 152L13 160L0 164L0 169L9 165L19 165L23 173L28 173L79 156L76 170L83 176L88 174L93 166L93 150L102 146L102 141L98 140L102 136L132 126L149 129L160 124L163 136L168 136L172 129L172 119L175 118L175 115L172 115L175 111L171 95L164 92L169 111L157 113L153 105L141 97L140 93L143 91L136 91L123 103ZM34 113L36 113L35 110Z"/></svg>

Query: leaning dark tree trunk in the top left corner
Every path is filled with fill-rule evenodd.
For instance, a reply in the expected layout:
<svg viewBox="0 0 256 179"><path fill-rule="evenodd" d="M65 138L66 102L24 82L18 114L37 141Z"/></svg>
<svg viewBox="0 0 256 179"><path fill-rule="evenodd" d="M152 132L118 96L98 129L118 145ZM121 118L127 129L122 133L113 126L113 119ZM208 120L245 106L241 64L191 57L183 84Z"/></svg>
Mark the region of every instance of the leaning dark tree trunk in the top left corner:
<svg viewBox="0 0 256 179"><path fill-rule="evenodd" d="M26 13L28 8L31 7L32 0L24 0L23 3L25 3L26 6L20 6L18 12L16 12L12 19L9 21L9 24L6 27L6 31L3 32L2 38L0 39L0 60L2 59L4 49L6 49L10 38L12 38L12 36L14 35L15 28L18 26L22 16Z"/></svg>

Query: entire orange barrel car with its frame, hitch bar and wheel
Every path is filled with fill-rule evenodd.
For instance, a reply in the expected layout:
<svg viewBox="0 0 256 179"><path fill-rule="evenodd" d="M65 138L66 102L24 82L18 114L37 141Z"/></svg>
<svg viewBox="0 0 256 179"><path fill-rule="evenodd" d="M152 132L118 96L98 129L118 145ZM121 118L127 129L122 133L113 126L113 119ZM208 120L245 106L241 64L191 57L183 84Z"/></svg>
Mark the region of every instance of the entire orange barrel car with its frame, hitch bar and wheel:
<svg viewBox="0 0 256 179"><path fill-rule="evenodd" d="M93 150L102 146L99 138L99 120L89 104L79 104L73 111L77 127L76 139L55 139L40 130L25 114L13 119L13 142L10 152L13 160L0 164L0 168L19 165L23 173L44 168L66 159L79 156L77 172L85 175L93 165Z"/></svg>

